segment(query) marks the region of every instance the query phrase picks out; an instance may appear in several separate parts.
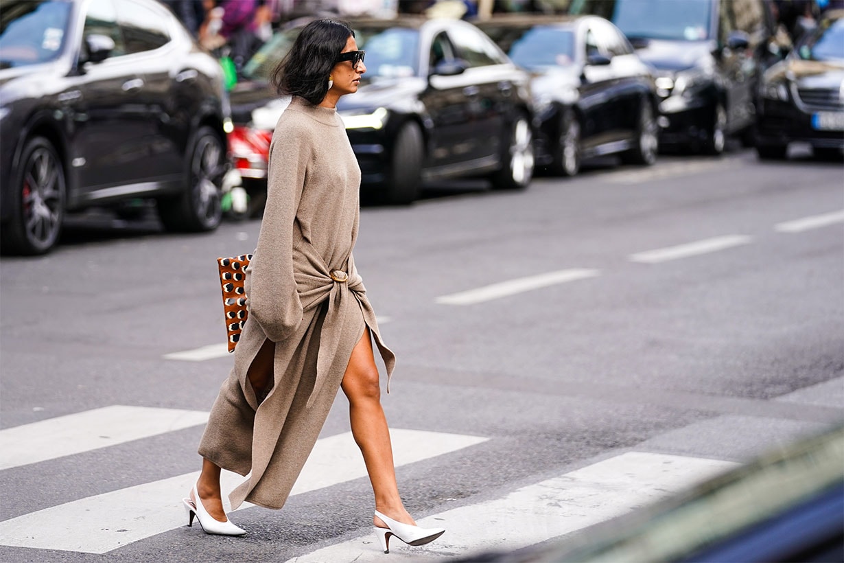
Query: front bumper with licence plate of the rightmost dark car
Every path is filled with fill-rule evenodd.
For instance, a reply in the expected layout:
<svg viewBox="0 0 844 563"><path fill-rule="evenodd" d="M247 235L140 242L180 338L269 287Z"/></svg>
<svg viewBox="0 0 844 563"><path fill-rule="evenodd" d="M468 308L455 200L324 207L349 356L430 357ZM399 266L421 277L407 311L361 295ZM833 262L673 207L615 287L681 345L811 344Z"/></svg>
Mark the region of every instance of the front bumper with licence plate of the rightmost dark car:
<svg viewBox="0 0 844 563"><path fill-rule="evenodd" d="M844 149L844 110L807 112L788 102L762 100L756 143L783 146L793 141L819 149Z"/></svg>

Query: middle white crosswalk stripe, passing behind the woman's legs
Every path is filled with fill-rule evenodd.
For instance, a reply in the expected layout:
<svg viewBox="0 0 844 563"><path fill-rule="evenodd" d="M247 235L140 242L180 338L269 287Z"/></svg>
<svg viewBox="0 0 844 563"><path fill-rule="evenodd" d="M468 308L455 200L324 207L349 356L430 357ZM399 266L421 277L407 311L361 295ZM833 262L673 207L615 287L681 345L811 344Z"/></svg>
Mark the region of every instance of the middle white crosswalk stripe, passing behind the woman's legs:
<svg viewBox="0 0 844 563"><path fill-rule="evenodd" d="M418 462L488 440L424 430L393 428L396 466ZM0 522L0 545L107 553L157 533L187 524L181 499L196 482L199 472L136 485ZM291 495L338 485L365 477L360 450L350 432L317 441ZM224 472L222 485L229 491L240 485L240 475ZM228 509L228 501L225 500ZM245 504L241 508L252 506ZM240 508L239 508L240 510ZM202 533L196 527L196 533Z"/></svg>

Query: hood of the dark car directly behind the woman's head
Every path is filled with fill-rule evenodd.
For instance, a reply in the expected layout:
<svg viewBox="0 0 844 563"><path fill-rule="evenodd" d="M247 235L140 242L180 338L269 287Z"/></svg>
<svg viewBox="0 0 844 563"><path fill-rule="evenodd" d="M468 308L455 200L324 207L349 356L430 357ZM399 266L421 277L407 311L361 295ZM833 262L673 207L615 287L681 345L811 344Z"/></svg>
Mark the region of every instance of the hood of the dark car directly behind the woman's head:
<svg viewBox="0 0 844 563"><path fill-rule="evenodd" d="M385 78L360 84L358 91L340 98L337 111L368 111L377 107L397 109L412 103L425 89L422 78ZM231 119L235 124L252 123L273 129L289 102L262 82L241 82L229 93Z"/></svg>

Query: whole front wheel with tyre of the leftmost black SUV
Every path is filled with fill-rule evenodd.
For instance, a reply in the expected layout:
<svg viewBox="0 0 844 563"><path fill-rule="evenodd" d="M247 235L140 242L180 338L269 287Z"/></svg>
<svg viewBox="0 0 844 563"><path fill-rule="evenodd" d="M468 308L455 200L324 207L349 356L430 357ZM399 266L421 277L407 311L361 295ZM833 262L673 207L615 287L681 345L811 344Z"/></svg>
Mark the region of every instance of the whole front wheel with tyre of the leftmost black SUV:
<svg viewBox="0 0 844 563"><path fill-rule="evenodd" d="M14 176L14 213L3 225L3 251L44 254L58 241L64 220L66 179L56 149L43 137L30 139Z"/></svg>

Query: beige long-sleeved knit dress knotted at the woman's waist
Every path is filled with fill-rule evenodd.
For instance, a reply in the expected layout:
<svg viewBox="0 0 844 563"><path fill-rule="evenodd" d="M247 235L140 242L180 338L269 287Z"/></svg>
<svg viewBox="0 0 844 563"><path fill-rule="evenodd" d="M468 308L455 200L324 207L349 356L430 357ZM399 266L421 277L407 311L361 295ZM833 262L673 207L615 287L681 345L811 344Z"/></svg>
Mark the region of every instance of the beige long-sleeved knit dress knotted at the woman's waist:
<svg viewBox="0 0 844 563"><path fill-rule="evenodd" d="M284 506L366 327L389 388L395 357L352 257L359 190L337 112L294 96L270 145L267 204L246 271L249 317L199 444L201 456L248 474L230 494L232 508ZM267 338L275 343L273 389L259 406L246 371Z"/></svg>

